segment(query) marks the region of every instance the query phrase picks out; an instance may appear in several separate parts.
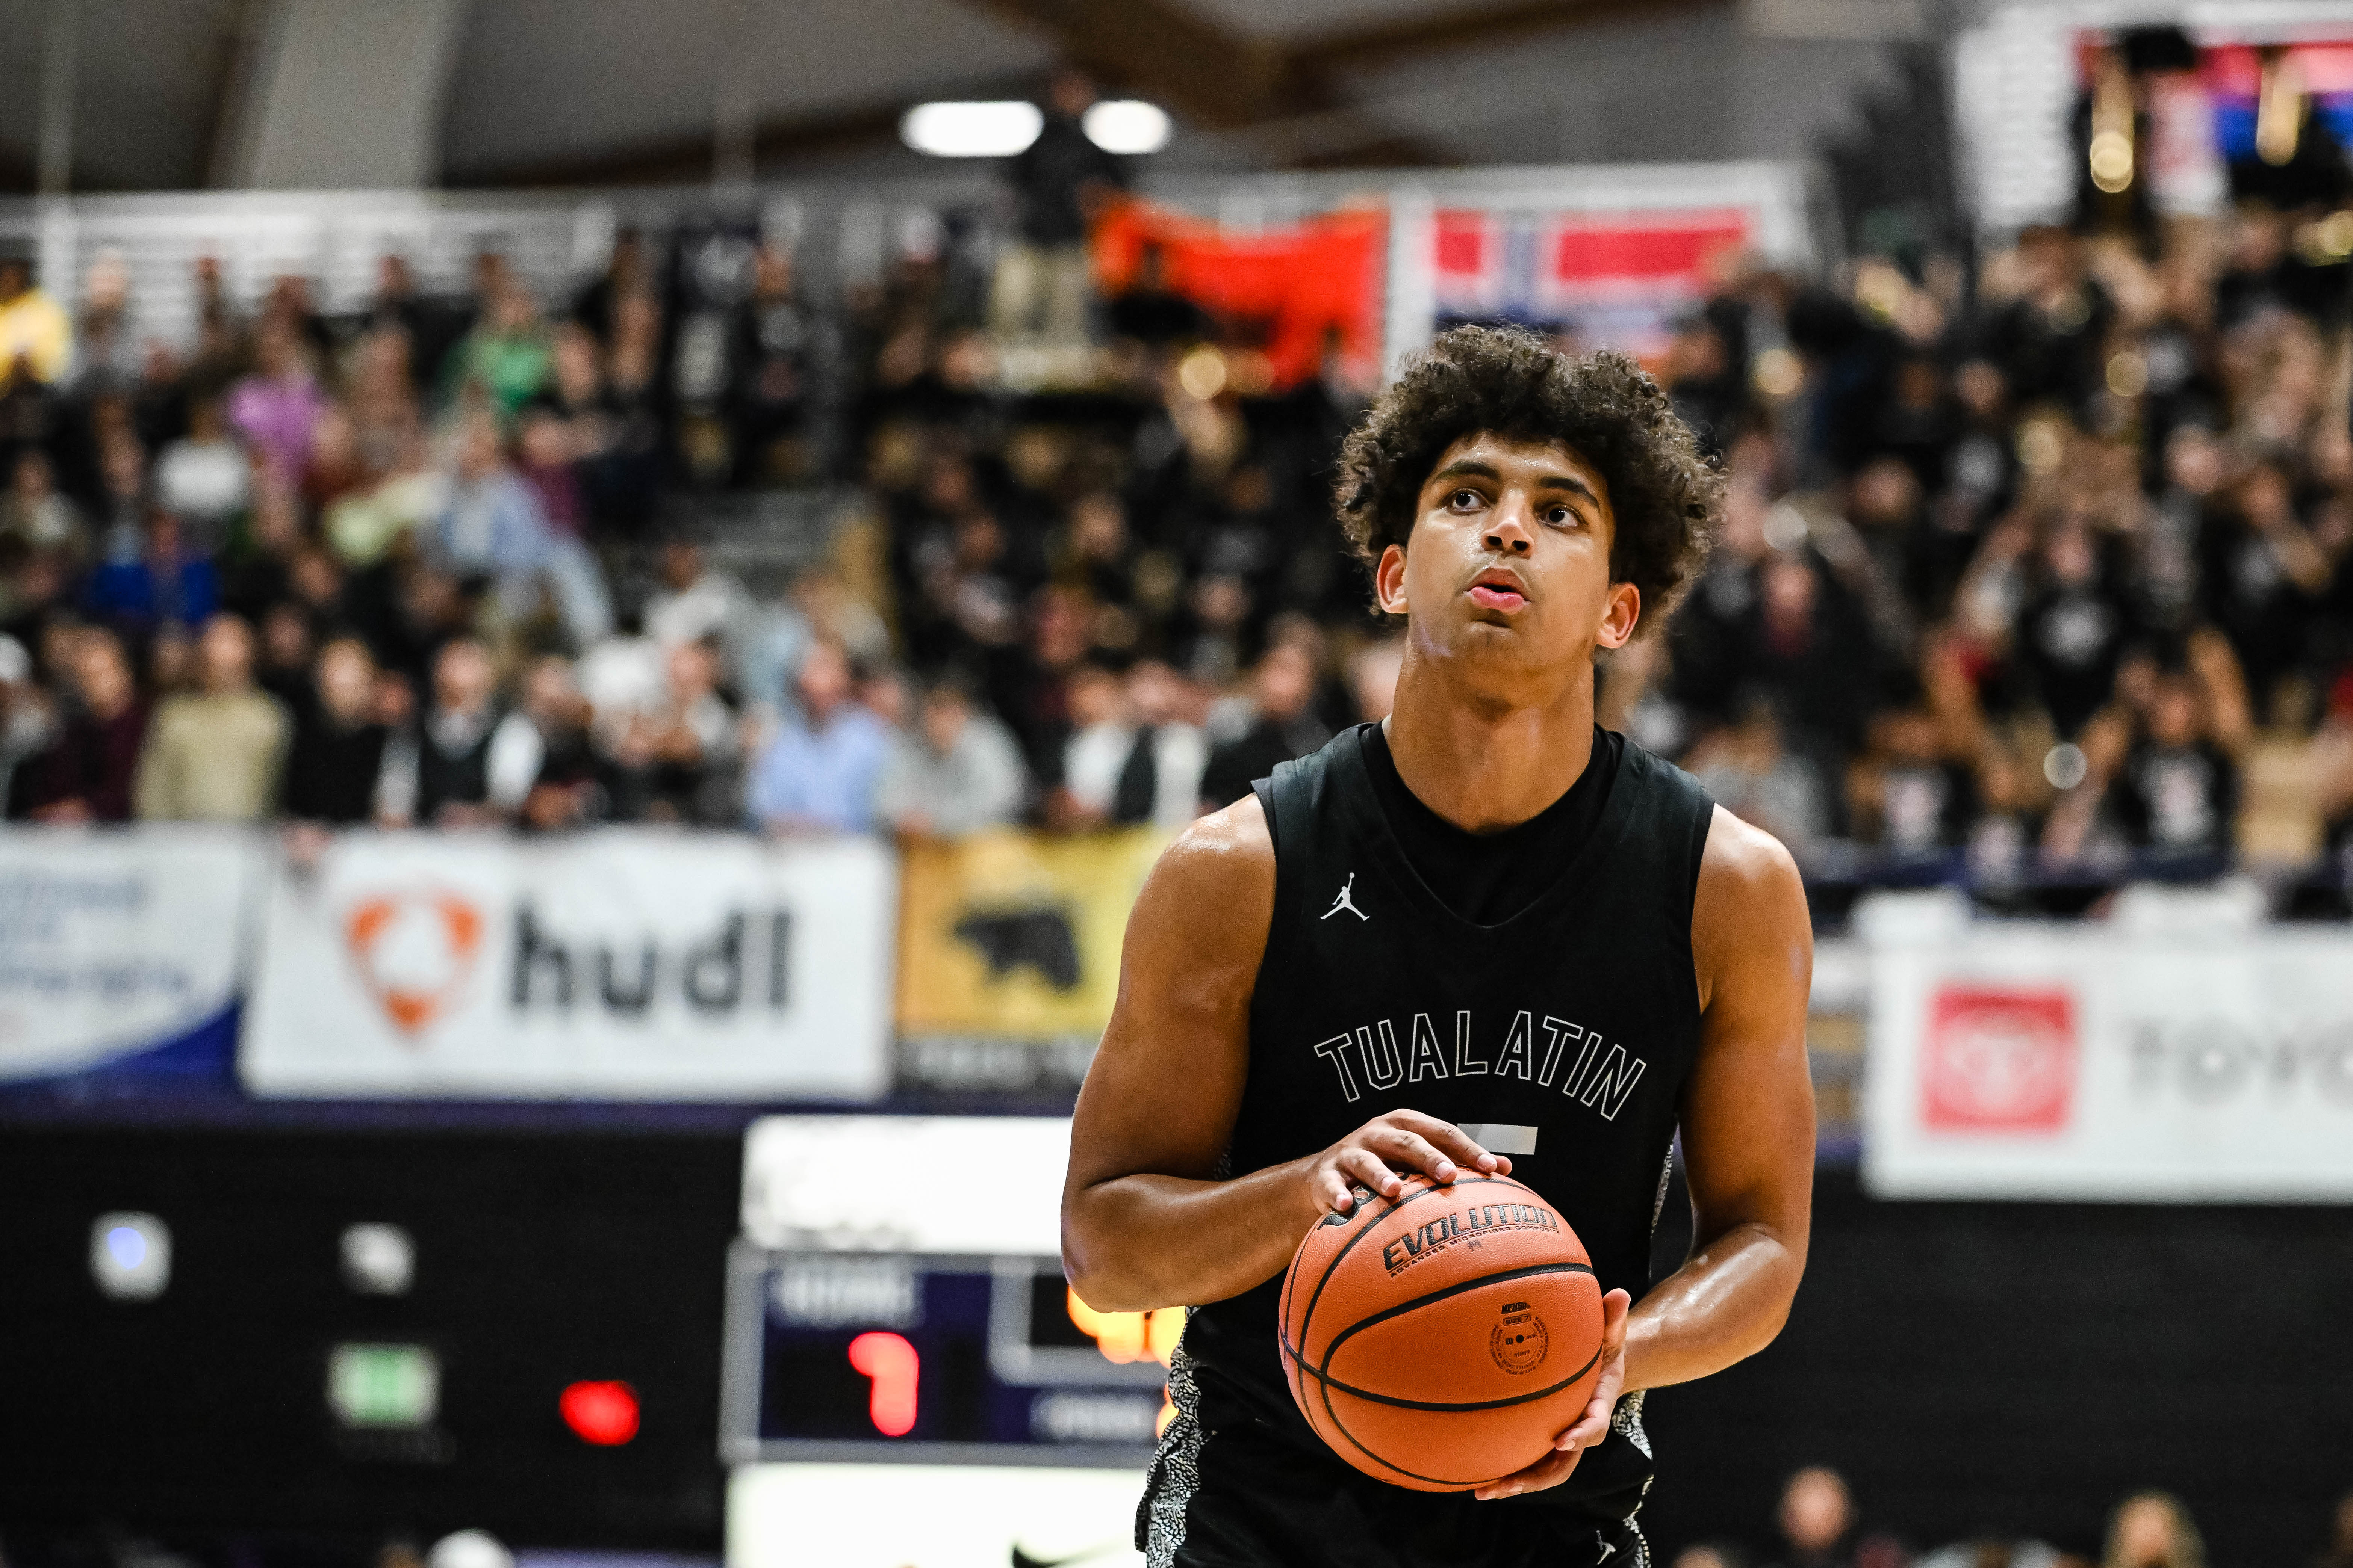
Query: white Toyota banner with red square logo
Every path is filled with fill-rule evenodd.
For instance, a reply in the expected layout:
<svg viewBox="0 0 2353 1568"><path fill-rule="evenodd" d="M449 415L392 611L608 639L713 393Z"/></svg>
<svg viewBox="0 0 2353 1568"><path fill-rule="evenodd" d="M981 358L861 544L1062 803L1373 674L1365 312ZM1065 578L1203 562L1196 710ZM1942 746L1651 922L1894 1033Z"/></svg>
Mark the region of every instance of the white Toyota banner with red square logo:
<svg viewBox="0 0 2353 1568"><path fill-rule="evenodd" d="M1873 952L1885 1197L2353 1199L2353 936L1965 926Z"/></svg>

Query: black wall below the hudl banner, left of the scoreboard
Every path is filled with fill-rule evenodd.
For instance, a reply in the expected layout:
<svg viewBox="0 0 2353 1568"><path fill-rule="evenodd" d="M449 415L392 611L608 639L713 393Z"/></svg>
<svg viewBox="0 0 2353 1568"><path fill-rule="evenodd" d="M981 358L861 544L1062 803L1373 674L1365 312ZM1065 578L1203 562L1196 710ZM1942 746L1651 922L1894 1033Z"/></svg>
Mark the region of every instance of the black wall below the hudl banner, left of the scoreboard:
<svg viewBox="0 0 2353 1568"><path fill-rule="evenodd" d="M0 1131L0 1528L28 1537L294 1530L715 1552L729 1135ZM113 1302L89 1222L153 1211L172 1286ZM344 1286L339 1239L416 1239L405 1298ZM339 1439L325 1359L409 1340L442 1361L447 1462ZM642 1401L624 1448L581 1443L567 1382Z"/></svg>

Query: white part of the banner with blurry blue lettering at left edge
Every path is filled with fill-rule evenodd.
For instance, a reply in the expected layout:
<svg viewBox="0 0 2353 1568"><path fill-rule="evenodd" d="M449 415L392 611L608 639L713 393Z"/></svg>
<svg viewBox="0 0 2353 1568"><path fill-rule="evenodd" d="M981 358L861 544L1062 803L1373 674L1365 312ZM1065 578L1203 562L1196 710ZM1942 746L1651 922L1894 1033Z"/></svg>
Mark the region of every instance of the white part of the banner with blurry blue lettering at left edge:
<svg viewBox="0 0 2353 1568"><path fill-rule="evenodd" d="M0 1081L231 1030L261 856L235 827L0 830Z"/></svg>

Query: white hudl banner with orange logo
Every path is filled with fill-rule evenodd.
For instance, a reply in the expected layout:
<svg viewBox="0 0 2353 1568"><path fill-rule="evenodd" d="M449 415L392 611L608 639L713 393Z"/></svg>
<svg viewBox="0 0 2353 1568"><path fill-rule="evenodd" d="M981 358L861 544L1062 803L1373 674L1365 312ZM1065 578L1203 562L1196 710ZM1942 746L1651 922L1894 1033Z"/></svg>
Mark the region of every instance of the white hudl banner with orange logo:
<svg viewBox="0 0 2353 1568"><path fill-rule="evenodd" d="M875 1098L894 903L871 839L348 835L271 889L245 1084Z"/></svg>

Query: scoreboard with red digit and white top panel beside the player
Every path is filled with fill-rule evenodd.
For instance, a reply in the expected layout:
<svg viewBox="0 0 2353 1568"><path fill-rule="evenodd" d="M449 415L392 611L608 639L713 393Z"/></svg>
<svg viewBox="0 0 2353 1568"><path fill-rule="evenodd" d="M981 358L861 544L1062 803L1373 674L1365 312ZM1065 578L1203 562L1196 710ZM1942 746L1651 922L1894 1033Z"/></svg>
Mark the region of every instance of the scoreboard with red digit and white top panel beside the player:
<svg viewBox="0 0 2353 1568"><path fill-rule="evenodd" d="M722 1458L1148 1462L1184 1309L1094 1312L1071 1291L1052 1251L1066 1147L1047 1119L755 1124Z"/></svg>

